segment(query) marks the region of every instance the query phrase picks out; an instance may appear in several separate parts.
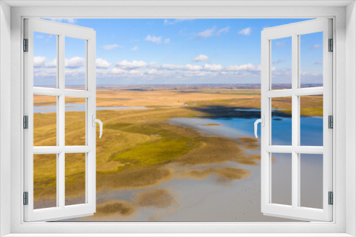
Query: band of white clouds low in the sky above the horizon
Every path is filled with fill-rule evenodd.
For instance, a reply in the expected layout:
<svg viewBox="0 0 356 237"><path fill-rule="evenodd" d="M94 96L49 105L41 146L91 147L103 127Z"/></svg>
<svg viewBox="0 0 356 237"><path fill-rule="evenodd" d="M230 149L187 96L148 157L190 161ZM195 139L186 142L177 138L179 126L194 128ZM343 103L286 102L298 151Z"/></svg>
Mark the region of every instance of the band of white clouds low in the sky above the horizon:
<svg viewBox="0 0 356 237"><path fill-rule="evenodd" d="M209 57L198 55L195 62L204 62ZM46 57L33 57L34 77L37 79L56 78L56 61L49 61ZM66 59L66 79L73 82L85 77L85 59L72 57ZM204 65L186 64L158 64L157 62L145 62L143 60L121 60L116 63L108 62L103 58L96 60L97 79L100 84L181 84L194 79L195 83L260 83L261 65L251 63L241 65L220 65L204 63ZM290 78L290 68L272 67L273 79L280 83L286 83ZM322 74L300 72L303 79L310 83L319 82ZM275 82L276 82L275 81Z"/></svg>

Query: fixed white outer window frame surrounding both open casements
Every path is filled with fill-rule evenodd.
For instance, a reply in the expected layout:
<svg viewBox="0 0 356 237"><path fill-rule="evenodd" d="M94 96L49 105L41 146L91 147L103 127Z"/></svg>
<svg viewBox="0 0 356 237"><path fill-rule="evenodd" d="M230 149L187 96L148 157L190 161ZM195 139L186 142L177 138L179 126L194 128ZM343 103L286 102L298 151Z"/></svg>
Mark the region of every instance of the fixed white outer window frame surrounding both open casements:
<svg viewBox="0 0 356 237"><path fill-rule="evenodd" d="M11 1L7 1L11 4ZM31 1L27 1L28 2ZM46 3L40 4L49 4ZM93 233L151 233L151 236L168 236L167 233L182 233L182 236L202 236L203 233L215 233L214 236L220 233L221 236L244 236L244 233L249 233L248 236L350 236L356 234L355 228L355 155L356 155L356 126L355 115L355 3L350 1L300 1L298 4L293 1L289 6L286 1L283 1L283 6L278 6L276 1L264 1L263 6L258 6L261 2L248 3L248 1L240 1L240 3L224 3L222 1L209 1L206 4L199 1L184 2L172 6L164 4L159 6L155 1L147 1L148 6L125 6L128 3L123 1L121 6L82 6L73 7L76 1L59 1L56 6L46 7L28 7L21 6L24 2L17 2L19 7L11 9L11 72L5 70L6 75L11 75L11 84L4 82L4 77L1 77L1 82L6 88L11 89L11 106L1 107L3 111L11 112L11 175L9 172L4 172L4 166L1 167L1 211L7 211L5 214L11 216L9 221L11 226L6 228L11 236L26 236L26 233L46 233L43 236L54 236L55 233L63 233L63 236L75 236L73 233L90 233L90 236L95 236ZM237 2L237 1L236 1ZM329 4L324 6L323 4ZM3 3L1 3L3 4ZM16 1L14 1L16 4ZM33 3L32 3L33 4ZM36 4L36 3L35 3ZM38 2L37 2L38 4ZM78 4L78 2L77 2ZM97 3L98 4L98 3ZM102 5L108 4L103 1ZM112 4L112 3L110 3ZM141 4L144 4L141 2ZM150 6L151 4L151 6ZM200 6L199 6L200 4ZM304 4L304 5L303 5ZM308 4L308 6L306 5ZM351 4L345 7L346 4ZM3 4L4 5L4 4ZM100 5L100 4L99 4ZM129 4L130 5L130 4ZM167 6L168 5L168 6ZM209 6L207 6L209 5ZM246 6L247 5L247 6ZM250 6L253 7L250 7ZM296 6L295 6L296 5ZM310 6L312 5L312 6ZM38 5L37 5L38 6ZM4 9L9 9L7 6L2 6ZM6 10L7 11L7 10ZM347 16L347 21L345 16ZM0 17L3 17L0 15ZM5 16L9 18L9 15ZM333 139L335 140L333 155L335 157L333 166L333 190L335 192L335 200L333 205L333 222L312 222L312 223L24 223L23 222L23 206L22 206L22 175L23 174L23 131L21 128L22 112L23 111L23 54L21 53L21 39L23 38L23 18L24 17L43 17L43 18L315 18L315 17L331 17L334 20L334 35L335 54L333 55L334 65L334 84L333 101L335 109L335 130ZM7 19L6 18L6 19ZM10 19L10 18L9 18ZM1 23L4 26L4 21ZM0 28L1 33L4 28ZM4 30L6 31L6 30ZM3 36L4 37L4 36ZM9 43L0 41L1 48ZM349 49L346 51L345 46ZM1 70L6 65L5 56L0 55ZM347 59L347 60L346 60ZM347 76L347 77L346 77ZM9 79L8 79L9 80ZM347 84L346 84L347 83ZM347 85L347 86L346 86ZM345 94L348 93L346 99ZM0 94L1 96L1 94ZM3 99L3 97L1 97ZM6 102L0 101L1 106ZM347 110L345 109L347 107ZM346 116L347 115L347 116ZM1 114L3 116L3 114ZM7 118L0 117L0 128L4 128ZM350 122L350 127L345 129L345 123ZM352 123L352 124L351 124ZM251 128L253 129L253 128ZM347 140L346 140L347 137ZM1 148L4 143L0 141ZM345 147L346 143L346 147ZM347 153L346 153L347 152ZM1 164L6 164L9 168L9 160L4 160L1 157ZM346 179L347 177L347 179ZM10 180L10 182L9 182ZM8 182L9 184L6 184ZM10 188L11 187L11 188ZM346 189L347 187L347 189ZM9 194L9 196L6 196ZM3 198L4 196L4 198ZM5 201L11 202L9 208L4 207ZM6 224L4 214L1 213L1 224ZM4 225L3 224L3 225ZM19 235L17 234L19 233ZM20 235L22 233L22 235ZM72 233L72 234L70 234ZM157 233L157 234L152 234ZM164 234L165 233L165 234ZM185 234L184 234L185 233ZM199 234L200 233L200 234ZM229 234L230 233L230 234ZM255 233L253 235L252 233ZM278 234L280 233L280 234ZM281 234L283 233L283 234ZM294 233L294 234L293 234ZM39 236L39 234L37 235ZM210 235L211 236L211 235Z"/></svg>

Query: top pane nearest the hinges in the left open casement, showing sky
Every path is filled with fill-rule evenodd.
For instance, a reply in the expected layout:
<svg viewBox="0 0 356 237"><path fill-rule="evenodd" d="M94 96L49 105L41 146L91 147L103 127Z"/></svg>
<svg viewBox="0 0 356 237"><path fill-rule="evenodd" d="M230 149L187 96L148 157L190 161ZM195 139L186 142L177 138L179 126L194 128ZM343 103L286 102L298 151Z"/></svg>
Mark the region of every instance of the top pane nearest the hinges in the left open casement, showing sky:
<svg viewBox="0 0 356 237"><path fill-rule="evenodd" d="M57 35L33 32L33 86L57 87Z"/></svg>

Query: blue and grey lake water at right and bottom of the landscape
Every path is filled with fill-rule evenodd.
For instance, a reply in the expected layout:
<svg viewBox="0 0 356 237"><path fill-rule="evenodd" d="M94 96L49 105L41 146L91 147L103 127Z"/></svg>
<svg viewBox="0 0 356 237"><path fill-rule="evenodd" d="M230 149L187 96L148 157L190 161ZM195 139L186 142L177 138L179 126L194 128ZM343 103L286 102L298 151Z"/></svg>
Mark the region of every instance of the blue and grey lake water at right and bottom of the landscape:
<svg viewBox="0 0 356 237"><path fill-rule="evenodd" d="M272 127L273 144L289 145L291 118L273 116ZM318 145L320 136L323 137L323 121L321 118L301 118L303 120L302 133L305 143ZM169 123L189 126L201 133L211 136L223 136L237 139L239 137L253 137L253 123L255 119L246 118L174 118ZM206 123L216 123L219 126L204 126ZM278 128L278 129L276 129ZM258 136L261 136L258 129ZM316 139L318 138L318 139ZM316 142L315 142L316 140ZM247 153L259 153L259 150L246 150ZM276 161L272 167L273 202L289 204L291 202L290 154L273 154ZM161 182L155 187L126 190L105 190L97 193L97 204L112 200L132 201L134 197L147 190L164 189L172 194L174 202L166 208L155 206L141 206L130 216L120 214L111 216L88 216L66 221L293 221L261 213L261 167L259 165L239 165L236 162L226 162L219 165L200 165L194 169L204 167L240 167L251 170L251 175L243 180L219 182L216 175L209 175L204 179L194 179L179 176L179 172L187 169L177 164L168 167L174 170L174 178ZM301 164L302 184L301 202L305 206L320 207L320 194L323 192L323 159L315 155L306 155ZM189 168L189 167L188 167ZM307 180L307 182L305 182ZM308 182L313 180L313 184ZM320 189L321 188L321 189Z"/></svg>

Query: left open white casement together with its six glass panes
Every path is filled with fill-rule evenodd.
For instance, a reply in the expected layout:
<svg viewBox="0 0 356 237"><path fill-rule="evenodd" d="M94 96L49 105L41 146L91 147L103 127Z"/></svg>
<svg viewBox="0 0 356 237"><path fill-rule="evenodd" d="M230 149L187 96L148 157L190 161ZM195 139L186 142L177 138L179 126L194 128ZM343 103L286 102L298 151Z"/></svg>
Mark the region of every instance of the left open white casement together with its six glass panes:
<svg viewBox="0 0 356 237"><path fill-rule="evenodd" d="M89 28L26 19L25 38L25 221L51 221L95 212L95 31ZM53 60L33 57L43 48L36 43L46 38ZM85 74L67 83L66 45L80 40ZM41 64L51 64L43 71ZM41 80L39 75L46 75ZM83 104L82 112L66 113L68 101ZM36 106L41 104L40 107ZM35 105L35 106L34 106ZM51 106L46 108L46 106ZM50 113L41 113L49 109ZM78 134L79 133L79 134ZM50 136L48 136L48 134ZM79 160L79 161L78 161ZM75 166L73 163L75 162ZM39 181L46 179L44 183ZM73 199L68 189L75 183ZM72 185L73 186L73 185Z"/></svg>

